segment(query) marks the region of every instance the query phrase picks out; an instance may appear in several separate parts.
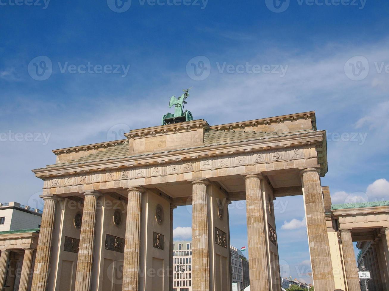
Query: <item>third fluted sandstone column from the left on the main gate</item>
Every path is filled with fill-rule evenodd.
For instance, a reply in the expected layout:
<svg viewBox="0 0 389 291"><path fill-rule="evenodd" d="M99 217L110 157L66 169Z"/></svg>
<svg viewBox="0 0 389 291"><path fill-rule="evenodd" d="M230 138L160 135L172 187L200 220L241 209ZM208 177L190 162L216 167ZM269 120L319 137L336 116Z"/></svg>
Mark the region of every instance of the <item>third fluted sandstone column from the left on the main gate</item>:
<svg viewBox="0 0 389 291"><path fill-rule="evenodd" d="M126 242L124 245L123 290L136 290L139 286L140 214L142 189L128 189Z"/></svg>

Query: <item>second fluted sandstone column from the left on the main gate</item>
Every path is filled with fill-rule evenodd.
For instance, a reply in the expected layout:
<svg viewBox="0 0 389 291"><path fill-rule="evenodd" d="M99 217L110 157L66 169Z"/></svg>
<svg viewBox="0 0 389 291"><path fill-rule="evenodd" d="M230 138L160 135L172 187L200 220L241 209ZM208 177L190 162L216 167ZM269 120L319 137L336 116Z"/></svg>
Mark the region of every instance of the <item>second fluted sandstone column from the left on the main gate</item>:
<svg viewBox="0 0 389 291"><path fill-rule="evenodd" d="M100 193L84 193L84 209L80 245L78 249L77 268L75 272L75 291L89 291L92 284L93 253L96 236L96 202Z"/></svg>

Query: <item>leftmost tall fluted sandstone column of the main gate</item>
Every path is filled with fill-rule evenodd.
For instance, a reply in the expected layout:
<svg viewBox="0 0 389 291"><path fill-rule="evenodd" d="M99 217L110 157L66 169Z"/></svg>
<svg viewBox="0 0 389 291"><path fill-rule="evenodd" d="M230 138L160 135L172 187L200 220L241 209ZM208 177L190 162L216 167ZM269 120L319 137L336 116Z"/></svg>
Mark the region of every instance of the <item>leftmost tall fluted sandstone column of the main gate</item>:
<svg viewBox="0 0 389 291"><path fill-rule="evenodd" d="M55 210L58 198L54 196L44 196L43 199L42 223L39 230L31 291L46 291L47 283L49 281Z"/></svg>

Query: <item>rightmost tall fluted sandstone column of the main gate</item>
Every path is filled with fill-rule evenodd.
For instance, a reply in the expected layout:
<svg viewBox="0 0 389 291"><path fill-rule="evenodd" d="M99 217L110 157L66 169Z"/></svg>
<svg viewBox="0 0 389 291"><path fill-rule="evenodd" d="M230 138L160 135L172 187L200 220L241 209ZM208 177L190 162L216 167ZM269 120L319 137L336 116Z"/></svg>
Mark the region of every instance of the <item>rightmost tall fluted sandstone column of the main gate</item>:
<svg viewBox="0 0 389 291"><path fill-rule="evenodd" d="M319 170L301 171L315 291L335 290Z"/></svg>

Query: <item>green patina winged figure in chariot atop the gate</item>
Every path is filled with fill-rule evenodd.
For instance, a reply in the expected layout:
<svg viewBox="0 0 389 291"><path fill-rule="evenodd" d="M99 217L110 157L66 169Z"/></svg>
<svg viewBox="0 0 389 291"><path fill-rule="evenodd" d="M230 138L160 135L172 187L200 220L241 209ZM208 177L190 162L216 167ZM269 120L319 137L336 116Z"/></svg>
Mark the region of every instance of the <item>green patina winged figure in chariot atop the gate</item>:
<svg viewBox="0 0 389 291"><path fill-rule="evenodd" d="M182 94L178 99L175 96L170 98L169 108L175 105L174 113L167 113L162 117L162 125L177 123L183 121L191 121L193 120L192 113L190 111L185 110L184 105L186 104L186 98L189 97L189 89L184 89L184 94Z"/></svg>

